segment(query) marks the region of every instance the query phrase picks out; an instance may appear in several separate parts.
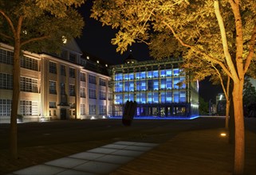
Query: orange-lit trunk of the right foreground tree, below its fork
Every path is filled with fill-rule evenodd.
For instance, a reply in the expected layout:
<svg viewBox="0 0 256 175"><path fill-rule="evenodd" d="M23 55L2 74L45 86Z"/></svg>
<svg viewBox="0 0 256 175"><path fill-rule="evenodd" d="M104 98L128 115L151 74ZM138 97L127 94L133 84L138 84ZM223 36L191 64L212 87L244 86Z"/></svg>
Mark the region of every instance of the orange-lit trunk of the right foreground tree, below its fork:
<svg viewBox="0 0 256 175"><path fill-rule="evenodd" d="M240 175L244 171L245 161L245 128L242 108L243 80L234 82L233 103L234 103L234 174Z"/></svg>

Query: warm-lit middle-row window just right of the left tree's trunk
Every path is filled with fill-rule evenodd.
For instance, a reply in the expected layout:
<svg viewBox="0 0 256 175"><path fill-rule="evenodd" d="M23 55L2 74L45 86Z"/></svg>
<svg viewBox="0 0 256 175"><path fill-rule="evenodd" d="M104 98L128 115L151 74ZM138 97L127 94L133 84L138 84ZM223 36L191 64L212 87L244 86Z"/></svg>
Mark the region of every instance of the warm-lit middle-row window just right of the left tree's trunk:
<svg viewBox="0 0 256 175"><path fill-rule="evenodd" d="M37 80L22 76L21 77L21 91L30 91L37 93Z"/></svg>

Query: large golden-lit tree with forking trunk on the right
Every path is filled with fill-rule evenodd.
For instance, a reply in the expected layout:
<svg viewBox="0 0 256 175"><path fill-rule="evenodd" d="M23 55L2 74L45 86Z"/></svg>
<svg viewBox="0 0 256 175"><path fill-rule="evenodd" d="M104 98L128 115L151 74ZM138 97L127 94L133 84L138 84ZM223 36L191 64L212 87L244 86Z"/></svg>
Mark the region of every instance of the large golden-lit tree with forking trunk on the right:
<svg viewBox="0 0 256 175"><path fill-rule="evenodd" d="M172 33L187 56L198 56L230 76L234 83L234 174L244 170L244 76L253 60L256 3L250 0L97 0L92 18L118 29L112 44L124 52L136 41L151 44L156 33ZM159 45L161 47L163 45ZM171 46L170 46L171 47Z"/></svg>

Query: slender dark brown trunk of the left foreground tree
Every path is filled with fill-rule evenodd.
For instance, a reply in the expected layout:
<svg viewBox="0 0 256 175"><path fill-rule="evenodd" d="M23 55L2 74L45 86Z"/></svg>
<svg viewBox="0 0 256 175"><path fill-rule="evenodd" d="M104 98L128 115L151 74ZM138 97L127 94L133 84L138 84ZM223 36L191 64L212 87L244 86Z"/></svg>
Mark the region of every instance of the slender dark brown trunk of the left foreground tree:
<svg viewBox="0 0 256 175"><path fill-rule="evenodd" d="M18 158L17 115L20 94L20 52L21 45L19 41L15 41L13 66L13 100L10 115L10 156L13 159Z"/></svg>

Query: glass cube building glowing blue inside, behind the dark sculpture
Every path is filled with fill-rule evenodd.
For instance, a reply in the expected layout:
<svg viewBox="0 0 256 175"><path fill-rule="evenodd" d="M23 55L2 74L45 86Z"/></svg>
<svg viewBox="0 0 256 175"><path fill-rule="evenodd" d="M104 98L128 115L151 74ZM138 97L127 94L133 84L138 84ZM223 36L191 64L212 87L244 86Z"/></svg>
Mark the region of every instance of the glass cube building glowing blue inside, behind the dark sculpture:
<svg viewBox="0 0 256 175"><path fill-rule="evenodd" d="M199 84L190 82L179 64L182 59L137 61L111 66L114 108L123 115L127 100L136 101L136 116L188 117L199 115Z"/></svg>

